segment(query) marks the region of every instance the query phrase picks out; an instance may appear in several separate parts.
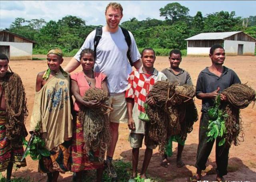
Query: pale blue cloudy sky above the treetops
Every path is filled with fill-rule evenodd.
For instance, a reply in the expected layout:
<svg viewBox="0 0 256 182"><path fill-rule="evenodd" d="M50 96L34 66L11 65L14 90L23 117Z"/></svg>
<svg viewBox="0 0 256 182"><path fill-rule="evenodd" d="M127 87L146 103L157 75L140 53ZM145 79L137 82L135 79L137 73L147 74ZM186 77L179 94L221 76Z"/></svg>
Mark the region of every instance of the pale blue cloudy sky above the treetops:
<svg viewBox="0 0 256 182"><path fill-rule="evenodd" d="M9 28L15 18L25 20L43 18L46 22L58 21L66 15L78 16L86 21L87 25L105 25L105 8L113 1L3 1L0 0L0 29ZM146 18L160 17L160 8L168 3L178 2L189 8L189 15L195 16L201 11L206 14L228 11L236 12L236 16L243 18L256 16L256 1L116 1L123 6L121 23L131 18L145 20Z"/></svg>

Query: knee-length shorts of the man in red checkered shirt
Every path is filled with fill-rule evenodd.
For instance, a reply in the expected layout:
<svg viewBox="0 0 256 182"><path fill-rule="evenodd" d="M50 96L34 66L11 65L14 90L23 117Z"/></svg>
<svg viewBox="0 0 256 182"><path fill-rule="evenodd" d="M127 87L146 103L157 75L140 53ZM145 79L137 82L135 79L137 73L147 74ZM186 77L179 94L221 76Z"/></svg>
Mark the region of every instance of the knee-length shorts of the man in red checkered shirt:
<svg viewBox="0 0 256 182"><path fill-rule="evenodd" d="M141 148L143 138L144 138L144 134L130 133L129 140L130 140L131 147L132 148ZM149 149L155 149L157 147L157 145L147 144L146 147L149 148Z"/></svg>

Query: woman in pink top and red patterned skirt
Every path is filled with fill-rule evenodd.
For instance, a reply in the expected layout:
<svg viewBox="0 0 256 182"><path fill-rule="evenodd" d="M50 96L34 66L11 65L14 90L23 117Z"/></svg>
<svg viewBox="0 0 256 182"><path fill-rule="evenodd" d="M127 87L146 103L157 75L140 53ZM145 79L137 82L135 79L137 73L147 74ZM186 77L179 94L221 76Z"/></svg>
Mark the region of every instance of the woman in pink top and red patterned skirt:
<svg viewBox="0 0 256 182"><path fill-rule="evenodd" d="M76 102L74 104L76 116L78 115L78 111L81 106L85 106L86 108L96 108L101 104L97 100L91 100L88 102L83 100L82 96L84 96L88 89L100 88L108 92L106 75L93 71L94 52L91 49L82 50L80 54L80 62L83 70L71 75L72 94L76 98ZM102 179L104 163L100 163L99 161L90 161L87 151L84 150L84 126L78 118L75 118L75 121L76 124L74 126L72 139L71 171L76 172L76 181L81 182L83 170L97 169L97 181L99 182Z"/></svg>

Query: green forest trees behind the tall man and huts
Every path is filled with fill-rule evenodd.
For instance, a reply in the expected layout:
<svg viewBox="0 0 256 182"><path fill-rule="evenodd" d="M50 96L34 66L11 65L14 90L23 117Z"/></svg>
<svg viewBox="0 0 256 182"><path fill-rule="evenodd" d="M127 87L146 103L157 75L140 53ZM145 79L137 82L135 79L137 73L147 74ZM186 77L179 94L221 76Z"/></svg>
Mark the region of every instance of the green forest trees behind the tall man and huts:
<svg viewBox="0 0 256 182"><path fill-rule="evenodd" d="M201 32L244 31L256 38L256 16L241 18L235 12L214 12L195 16L188 15L189 9L178 2L169 3L160 8L160 16L165 20L152 19L139 21L131 18L120 26L131 31L139 48L152 47L163 49L186 49L184 39ZM77 16L67 15L58 21L44 19L25 20L16 18L7 30L34 40L35 48L48 49L58 46L66 52L72 52L82 46L88 34L96 26L86 25L86 21Z"/></svg>

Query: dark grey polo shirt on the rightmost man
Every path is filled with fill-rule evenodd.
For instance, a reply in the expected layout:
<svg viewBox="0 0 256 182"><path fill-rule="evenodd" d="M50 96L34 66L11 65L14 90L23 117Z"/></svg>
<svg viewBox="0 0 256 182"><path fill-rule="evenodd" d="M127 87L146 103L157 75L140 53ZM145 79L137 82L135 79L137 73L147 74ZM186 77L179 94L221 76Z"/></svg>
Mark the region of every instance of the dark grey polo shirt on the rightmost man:
<svg viewBox="0 0 256 182"><path fill-rule="evenodd" d="M200 93L210 93L214 90L217 90L218 86L220 87L220 91L230 87L232 84L240 84L241 81L238 78L237 74L223 66L223 72L219 76L216 74L213 74L208 70L208 67L206 67L204 70L202 70L198 76L197 82L196 82L196 95ZM202 100L202 112L207 112L209 107L214 106L214 100L207 98Z"/></svg>

